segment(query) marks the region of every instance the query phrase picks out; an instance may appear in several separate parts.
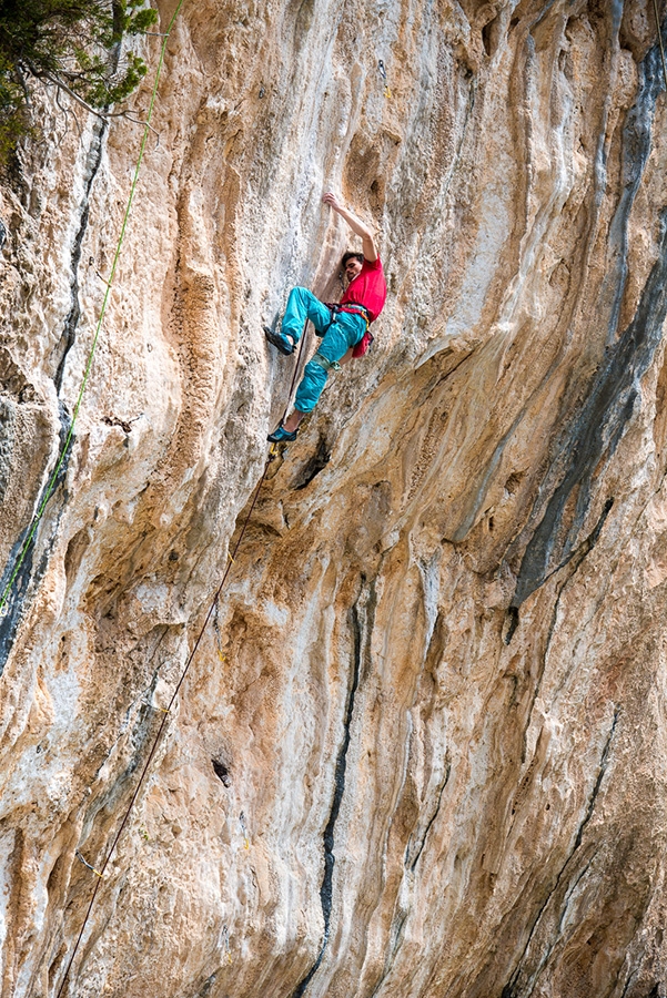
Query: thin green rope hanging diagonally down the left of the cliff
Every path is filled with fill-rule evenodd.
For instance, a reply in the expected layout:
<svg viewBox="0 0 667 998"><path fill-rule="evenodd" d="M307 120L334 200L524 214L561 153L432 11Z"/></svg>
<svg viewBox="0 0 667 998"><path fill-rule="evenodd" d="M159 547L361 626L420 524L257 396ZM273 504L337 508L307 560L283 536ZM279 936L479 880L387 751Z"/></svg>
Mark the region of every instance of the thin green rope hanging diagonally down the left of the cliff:
<svg viewBox="0 0 667 998"><path fill-rule="evenodd" d="M120 258L121 247L122 247L122 245L123 245L123 240L124 240L124 236L125 236L125 228L127 228L127 226L128 226L128 220L129 220L129 217L130 217L130 210L131 210L131 207L132 207L132 201L134 200L134 192L135 192L135 190L137 190L137 182L138 182L138 180L139 180L139 171L141 170L141 163L142 163L142 160L143 160L143 153L144 153L144 150L145 150L145 144L146 144L148 138L149 138L149 131L150 131L150 125L151 125L151 118L152 118L152 115L153 115L153 108L154 108L154 104L155 104L155 98L156 98L156 94L158 94L158 84L159 84L159 82L160 82L160 73L161 73L161 71L162 71L162 64L163 64L163 62L164 62L164 53L165 53L165 51L166 51L166 43L168 43L168 41L169 41L169 35L170 35L170 33L171 33L171 29L173 28L173 24L174 24L174 22L175 22L178 16L179 16L179 12L180 12L180 10L181 10L182 3L183 3L183 0L179 0L178 7L176 7L176 9L175 9L175 11L174 11L174 13L173 13L173 16L172 16L172 18L171 18L171 21L169 22L169 27L168 27L168 29L166 29L166 31L165 31L165 33L164 33L164 40L163 40L163 42L162 42L162 48L161 48L161 50L160 50L160 59L159 59L159 62L158 62L158 70L156 70L156 72L155 72L155 80L154 80L154 82L153 82L153 90L152 90L152 92L151 92L151 101L150 101L150 104L149 104L149 111L148 111L146 120L145 120L145 122L144 122L143 136L142 136L142 139L141 139L141 145L140 145L140 149L139 149L139 157L138 157L138 160L137 160L137 166L134 167L134 176L132 177L132 185L131 185L131 187L130 187L130 196L128 197L128 204L127 204L127 207L125 207L125 213L124 213L124 215L123 215L123 222L122 222L122 225L121 225L120 235L119 235L119 237L118 237L118 243L117 243L117 245L115 245L115 253L114 253L114 255L113 255L113 263L112 263L112 265L111 265L111 274L110 274L110 276L109 276L109 281L107 282L107 291L104 292L104 298L103 298L103 301L102 301L102 308L101 308L101 312L100 312L100 317L98 318L98 324L97 324L97 326L95 326L94 336L93 336L93 339L92 339L92 344L91 344L91 347L90 347L90 352L89 352L89 354L88 354L88 360L87 360L87 364L85 364L85 369L84 369L84 371L83 371L83 378L82 378L82 380L81 380L81 387L79 388L79 395L78 395L78 397L77 397L77 403L75 403L74 408L73 408L73 410L72 410L72 419L71 419L71 422L70 422L70 427L69 427L69 429L68 429L67 437L65 437L65 439L64 439L64 444L62 445L62 449L61 449L60 455L59 455L59 457L58 457L58 461L57 461L57 464L55 464L55 468L53 469L53 472L51 473L51 478L49 479L49 483L48 483L48 486L47 486L47 490L46 490L46 492L44 492L44 497L43 497L43 499L42 499L42 501L41 501L41 503L40 503L40 506L39 506L39 509L38 509L37 513L36 513L34 517L32 518L32 522L31 522L31 525L30 525L30 530L29 530L29 532L28 532L28 537L26 538L26 540L23 541L23 544L21 546L21 550L20 550L19 556L18 556L18 558L17 558L17 561L16 561L16 563L14 563L12 573L11 573L11 576L10 576L10 578L9 578L9 581L8 581L7 585L4 587L4 590L2 591L2 595L0 597L0 615L2 615L2 613L3 613L3 611L4 611L4 607L6 607L7 600L9 599L9 594L10 594L10 592L11 592L11 588L12 588L14 581L16 581L17 576L19 574L19 571L20 571L20 569L21 569L21 566L23 564L23 561L24 561L24 559L26 559L26 554L28 553L28 550L29 550L29 548L30 548L30 544L32 543L32 538L34 537L34 533L36 533L36 531L37 531L37 528L38 528L38 526L39 526L39 522L40 522L40 520L41 520L41 518L42 518L42 516L43 516L43 513L44 513L44 509L47 508L47 503L48 503L49 499L51 498L51 496L53 495L53 491L54 491L54 489L55 489L55 482L58 481L58 476L60 475L60 469L62 468L62 464L63 464L63 461L64 461L64 459L65 459L65 457L67 457L68 450L70 449L70 444L72 442L72 436L73 436L73 434L74 434L74 424L77 422L77 417L78 417L78 415L79 415L79 409L81 408L81 403L82 403L82 400L83 400L83 393L85 391L85 387L87 387L87 385L88 385L88 378L89 378L89 376L90 376L90 371L91 371L91 368L92 368L92 363L93 363L93 358L94 358L94 354L95 354L95 348L97 348L97 346L98 346L98 339L99 339L99 337L100 337L100 332L101 332L101 329L102 329L102 322L104 320L104 313L107 312L107 305L109 304L109 298L110 298L110 296L111 296L111 286L112 286L112 284L113 284L113 278L114 278L114 276L115 276L115 271L117 271L118 262L119 262L119 258Z"/></svg>

